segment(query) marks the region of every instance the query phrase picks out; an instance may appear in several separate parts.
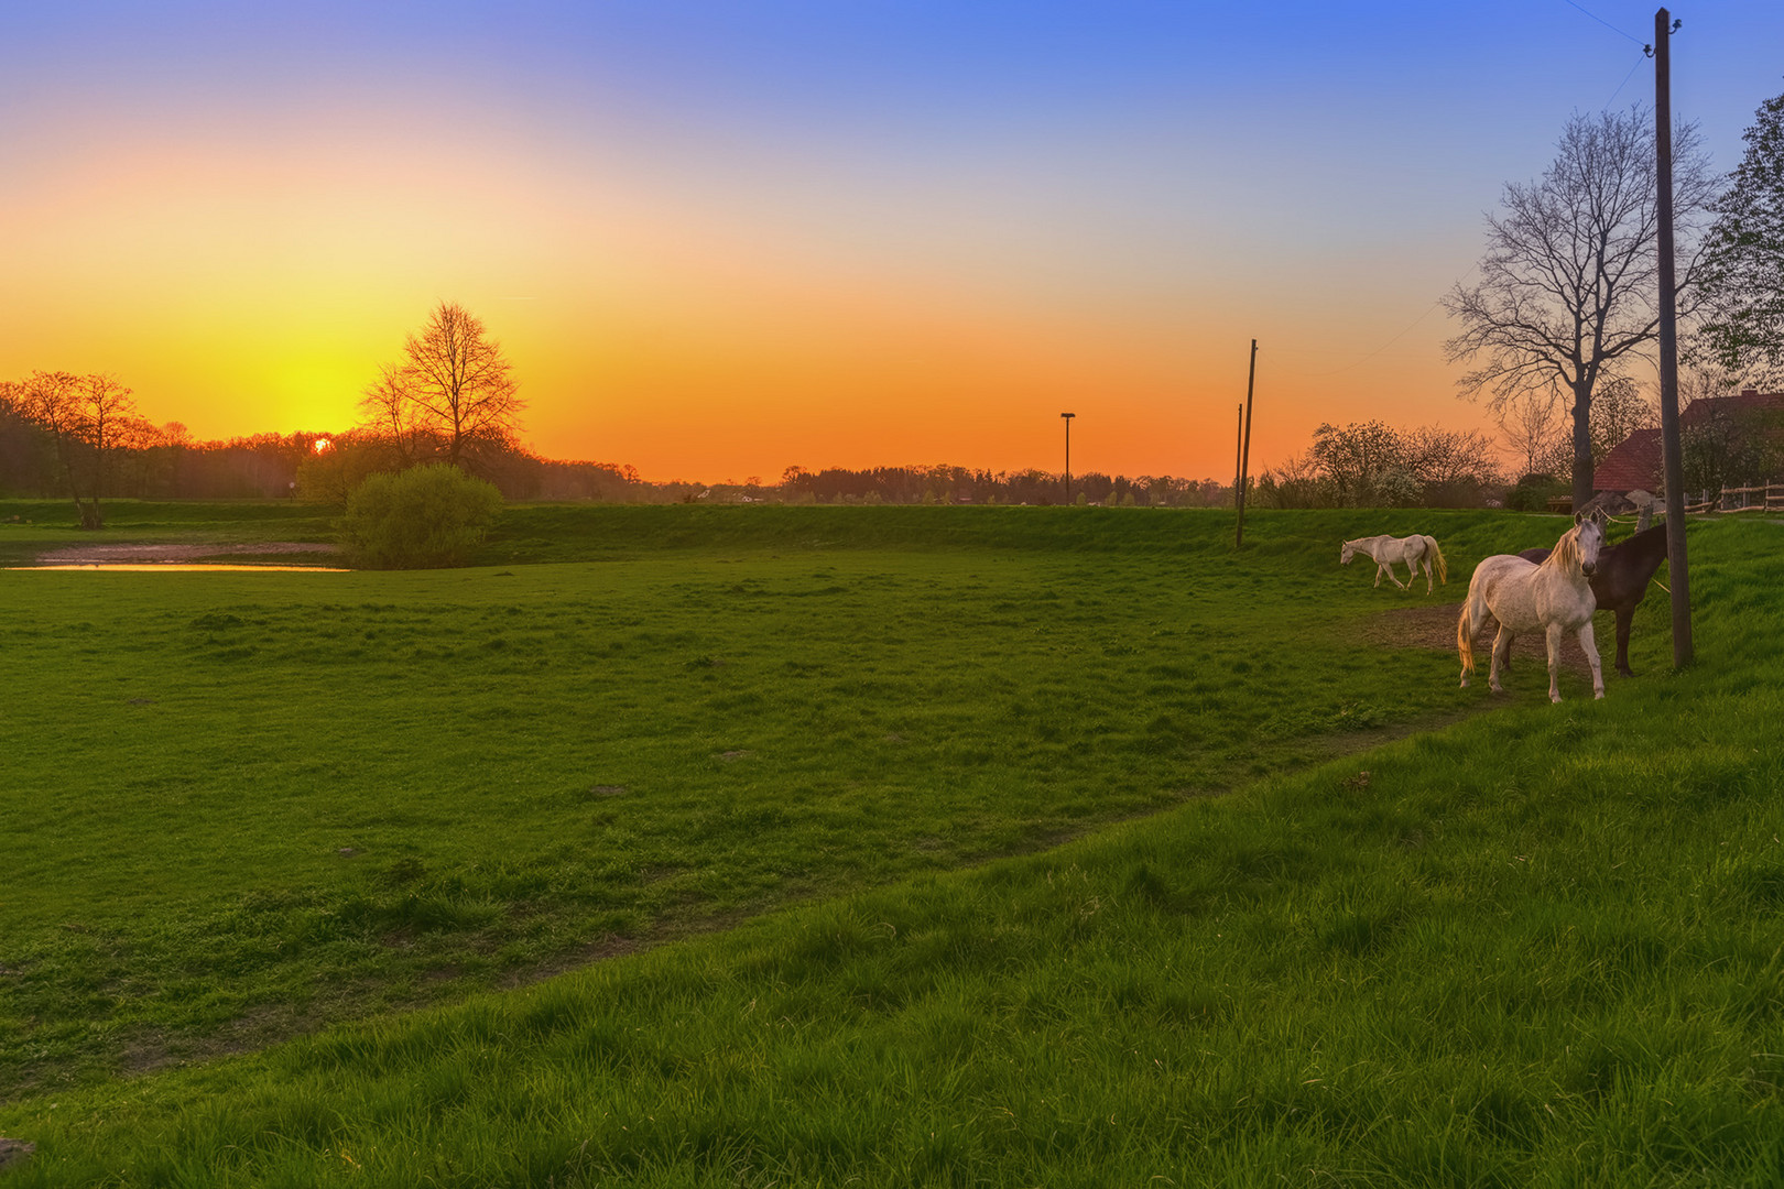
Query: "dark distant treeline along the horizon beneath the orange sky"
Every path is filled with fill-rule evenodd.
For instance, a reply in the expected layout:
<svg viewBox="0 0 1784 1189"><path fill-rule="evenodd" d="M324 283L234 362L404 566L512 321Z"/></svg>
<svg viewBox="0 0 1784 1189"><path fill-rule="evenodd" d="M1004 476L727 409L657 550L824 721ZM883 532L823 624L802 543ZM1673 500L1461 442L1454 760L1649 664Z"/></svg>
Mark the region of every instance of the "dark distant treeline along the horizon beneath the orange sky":
<svg viewBox="0 0 1784 1189"><path fill-rule="evenodd" d="M48 383L59 380L57 385ZM107 399L114 399L107 414ZM36 374L0 383L0 496L125 499L310 499L344 504L368 474L439 460L426 435L360 426L344 433L257 433L196 440L186 426L136 415L103 376ZM512 437L473 442L460 465L507 499L601 503L1104 504L1204 508L1233 483L953 465L851 471L787 467L778 483L651 483L630 465L541 458ZM1381 422L1320 426L1313 447L1252 478L1263 506L1479 504L1499 496L1490 444L1475 433L1397 431Z"/></svg>

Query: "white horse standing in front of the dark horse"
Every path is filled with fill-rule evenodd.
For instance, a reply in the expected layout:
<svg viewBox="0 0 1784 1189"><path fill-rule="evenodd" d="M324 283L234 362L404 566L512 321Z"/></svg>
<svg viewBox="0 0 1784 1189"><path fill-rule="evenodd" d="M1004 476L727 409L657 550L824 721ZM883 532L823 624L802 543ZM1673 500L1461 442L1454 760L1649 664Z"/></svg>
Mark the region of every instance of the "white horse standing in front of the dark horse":
<svg viewBox="0 0 1784 1189"><path fill-rule="evenodd" d="M1591 695L1604 697L1598 645L1591 638L1591 613L1598 610L1598 601L1591 594L1590 581L1598 567L1602 545L1604 526L1598 521L1573 517L1573 528L1556 542L1554 553L1541 565L1502 553L1474 567L1468 601L1461 604L1461 620L1456 624L1463 688L1474 672L1475 638L1490 622L1499 620L1493 663L1488 668L1493 693L1506 692L1499 685L1499 668L1511 656L1511 638L1520 631L1541 627L1549 633L1549 701L1561 701L1556 676L1561 672L1561 635L1568 631L1579 633L1579 647L1591 665Z"/></svg>

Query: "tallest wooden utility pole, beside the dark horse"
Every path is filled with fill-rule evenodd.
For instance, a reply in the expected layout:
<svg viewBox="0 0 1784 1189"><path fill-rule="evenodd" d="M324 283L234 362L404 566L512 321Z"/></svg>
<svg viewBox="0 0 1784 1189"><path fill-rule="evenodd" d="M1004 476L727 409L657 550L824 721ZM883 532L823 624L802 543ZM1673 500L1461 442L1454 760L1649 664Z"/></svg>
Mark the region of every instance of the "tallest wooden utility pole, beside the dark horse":
<svg viewBox="0 0 1784 1189"><path fill-rule="evenodd" d="M1654 12L1654 153L1659 184L1661 456L1666 471L1666 562L1672 579L1673 668L1691 663L1691 572L1684 556L1684 449L1679 444L1679 321L1673 308L1672 53L1677 23Z"/></svg>

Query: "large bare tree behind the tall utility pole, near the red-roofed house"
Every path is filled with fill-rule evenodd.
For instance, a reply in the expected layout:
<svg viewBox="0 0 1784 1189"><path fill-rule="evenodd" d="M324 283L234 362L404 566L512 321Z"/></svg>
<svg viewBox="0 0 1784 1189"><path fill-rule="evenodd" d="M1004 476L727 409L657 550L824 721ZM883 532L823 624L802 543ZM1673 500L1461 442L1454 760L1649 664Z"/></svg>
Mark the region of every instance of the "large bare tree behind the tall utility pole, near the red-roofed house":
<svg viewBox="0 0 1784 1189"><path fill-rule="evenodd" d="M1688 258L1679 312L1700 280L1700 235L1716 184L1693 125L1673 132L1673 223ZM1474 287L1443 299L1461 333L1450 362L1474 362L1463 396L1486 392L1493 412L1545 389L1573 396L1573 504L1591 499L1591 401L1659 333L1654 119L1575 114L1540 182L1509 184L1486 217L1486 255Z"/></svg>

